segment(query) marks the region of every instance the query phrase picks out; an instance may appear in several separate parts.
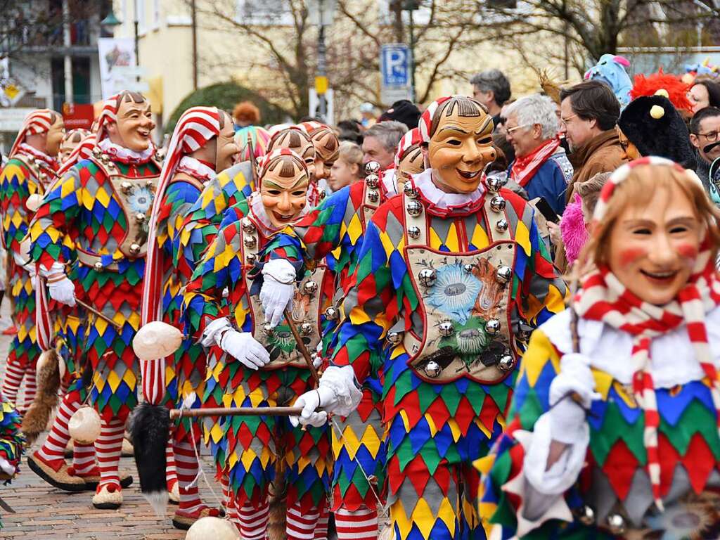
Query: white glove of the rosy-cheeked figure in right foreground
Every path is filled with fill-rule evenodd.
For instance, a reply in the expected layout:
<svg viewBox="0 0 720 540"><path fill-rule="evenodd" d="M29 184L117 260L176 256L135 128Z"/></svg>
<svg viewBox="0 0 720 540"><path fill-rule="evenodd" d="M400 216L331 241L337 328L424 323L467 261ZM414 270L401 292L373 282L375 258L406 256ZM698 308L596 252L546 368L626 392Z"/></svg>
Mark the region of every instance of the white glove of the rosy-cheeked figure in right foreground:
<svg viewBox="0 0 720 540"><path fill-rule="evenodd" d="M550 384L550 432L555 441L573 444L585 425L586 411L595 392L595 379L590 359L582 354L565 354L560 372Z"/></svg>

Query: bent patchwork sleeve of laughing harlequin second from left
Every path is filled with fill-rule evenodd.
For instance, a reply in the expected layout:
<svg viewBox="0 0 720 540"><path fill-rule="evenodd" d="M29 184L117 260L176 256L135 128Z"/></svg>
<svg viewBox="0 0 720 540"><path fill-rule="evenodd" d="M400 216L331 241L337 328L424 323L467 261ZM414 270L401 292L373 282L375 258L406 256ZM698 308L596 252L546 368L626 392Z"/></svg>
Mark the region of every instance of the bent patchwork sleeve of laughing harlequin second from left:
<svg viewBox="0 0 720 540"><path fill-rule="evenodd" d="M73 256L72 242L65 242L66 235L71 240L76 237L73 221L88 197L83 189L82 175L89 175L87 168L76 166L53 184L53 189L45 193L40 208L30 223L30 255L32 260L50 269L55 261L66 263ZM107 215L107 214L106 214ZM101 217L102 219L102 217ZM97 229L100 223L95 220ZM97 230L94 231L95 233Z"/></svg>

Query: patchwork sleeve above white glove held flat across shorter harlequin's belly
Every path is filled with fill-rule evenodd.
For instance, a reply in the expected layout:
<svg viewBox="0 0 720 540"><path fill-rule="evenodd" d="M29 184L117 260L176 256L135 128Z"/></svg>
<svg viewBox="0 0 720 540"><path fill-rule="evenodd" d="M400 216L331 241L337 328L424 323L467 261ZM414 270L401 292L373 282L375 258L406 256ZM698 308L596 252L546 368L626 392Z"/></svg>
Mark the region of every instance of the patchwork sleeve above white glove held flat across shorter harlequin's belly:
<svg viewBox="0 0 720 540"><path fill-rule="evenodd" d="M217 233L192 276L185 292L186 322L191 336L200 338L207 323L222 316L223 289L238 328L246 330L250 318L242 297L245 294L240 248L240 224Z"/></svg>

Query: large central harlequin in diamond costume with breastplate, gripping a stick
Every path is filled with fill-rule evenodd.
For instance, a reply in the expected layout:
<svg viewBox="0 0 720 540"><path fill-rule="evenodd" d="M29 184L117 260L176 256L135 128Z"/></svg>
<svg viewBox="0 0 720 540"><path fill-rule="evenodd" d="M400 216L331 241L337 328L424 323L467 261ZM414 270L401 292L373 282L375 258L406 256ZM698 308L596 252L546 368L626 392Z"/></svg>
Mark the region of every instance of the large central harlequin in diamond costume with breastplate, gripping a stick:
<svg viewBox="0 0 720 540"><path fill-rule="evenodd" d="M445 122L469 130L466 145L482 140L469 158L472 176L462 178L480 181L495 157L492 121L480 104L454 96L428 107L420 132L432 169L375 212L330 366L315 401L300 397L307 423L353 408L356 385L372 376L372 355L382 355L396 539L482 536L472 461L503 430L517 342L563 307L564 284L525 201L496 182L467 194L434 183L441 163L433 159L433 133L442 134ZM463 160L464 151L454 155ZM313 413L318 402L321 412Z"/></svg>

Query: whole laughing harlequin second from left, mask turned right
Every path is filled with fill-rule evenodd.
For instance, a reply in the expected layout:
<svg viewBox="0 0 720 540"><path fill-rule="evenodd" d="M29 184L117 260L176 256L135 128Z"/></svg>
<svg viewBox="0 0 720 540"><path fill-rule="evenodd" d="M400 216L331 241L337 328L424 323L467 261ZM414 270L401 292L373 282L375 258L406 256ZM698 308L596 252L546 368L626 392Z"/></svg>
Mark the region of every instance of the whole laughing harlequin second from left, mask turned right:
<svg viewBox="0 0 720 540"><path fill-rule="evenodd" d="M118 508L122 503L117 467L125 420L138 400L140 372L130 343L140 325L148 220L160 174L151 143L145 150L130 150L113 143L108 130L114 124L115 131L122 132L121 126L129 125L127 137L145 140L154 127L145 109L145 98L132 92L105 102L93 156L77 163L45 194L30 228L31 256L40 273L48 276L50 296L53 283L56 290L65 283L60 272L71 262L65 245L69 238L78 262L69 278L76 283L78 297L122 328L91 316L84 340L84 354L93 369L89 400L102 418L96 446L101 476L93 498L96 508ZM130 114L120 116L122 111ZM37 453L32 457L40 461Z"/></svg>

